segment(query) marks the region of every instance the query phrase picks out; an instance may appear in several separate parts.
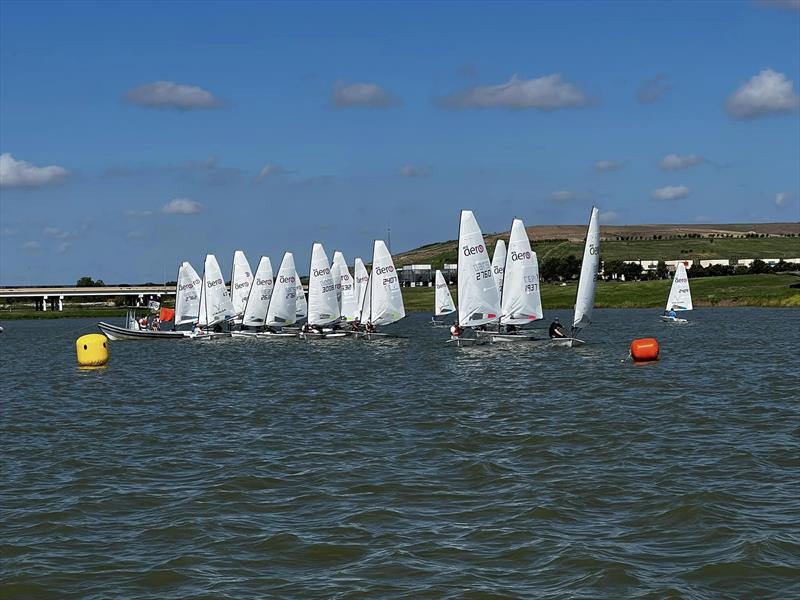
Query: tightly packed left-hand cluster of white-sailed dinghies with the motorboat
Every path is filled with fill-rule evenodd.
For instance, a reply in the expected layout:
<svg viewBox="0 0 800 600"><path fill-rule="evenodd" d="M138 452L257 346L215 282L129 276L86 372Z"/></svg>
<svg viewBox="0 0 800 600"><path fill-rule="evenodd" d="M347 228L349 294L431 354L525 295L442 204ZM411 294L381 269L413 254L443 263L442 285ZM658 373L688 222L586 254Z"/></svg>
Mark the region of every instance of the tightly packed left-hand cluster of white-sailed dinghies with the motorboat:
<svg viewBox="0 0 800 600"><path fill-rule="evenodd" d="M308 299L291 252L283 255L276 275L269 257L262 256L253 273L244 252L237 250L230 288L213 254L206 256L203 266L202 277L188 262L178 269L171 329L149 328L143 324L146 319L136 318L135 310L129 311L124 327L104 322L98 326L110 339L324 339L347 335L371 339L387 335L378 327L405 317L394 262L380 240L373 248L373 276L357 258L355 278L341 252L334 252L329 262L322 244L315 242Z"/></svg>

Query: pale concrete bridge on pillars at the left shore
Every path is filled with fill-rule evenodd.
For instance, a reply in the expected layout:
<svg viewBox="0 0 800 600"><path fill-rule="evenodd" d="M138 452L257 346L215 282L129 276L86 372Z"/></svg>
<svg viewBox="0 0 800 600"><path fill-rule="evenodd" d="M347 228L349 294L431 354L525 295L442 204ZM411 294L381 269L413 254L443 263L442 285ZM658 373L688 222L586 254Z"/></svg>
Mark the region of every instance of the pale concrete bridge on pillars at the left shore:
<svg viewBox="0 0 800 600"><path fill-rule="evenodd" d="M32 300L36 310L64 310L65 297L110 298L117 296L133 296L136 306L146 305L150 300L159 300L161 296L174 296L175 286L163 285L106 285L106 286L51 286L51 287L15 287L0 288L0 298L19 298Z"/></svg>

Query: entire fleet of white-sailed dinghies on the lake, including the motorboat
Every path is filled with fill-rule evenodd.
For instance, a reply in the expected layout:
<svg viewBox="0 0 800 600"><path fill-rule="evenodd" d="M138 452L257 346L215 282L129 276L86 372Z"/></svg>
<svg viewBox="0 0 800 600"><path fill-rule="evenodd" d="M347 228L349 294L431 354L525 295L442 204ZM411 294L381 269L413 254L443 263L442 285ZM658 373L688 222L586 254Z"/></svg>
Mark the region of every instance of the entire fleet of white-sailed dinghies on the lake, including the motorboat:
<svg viewBox="0 0 800 600"><path fill-rule="evenodd" d="M584 344L577 336L592 322L600 268L598 212L593 207L589 215L570 331L558 328L554 333L554 323L549 337L555 345ZM125 327L98 325L110 339L390 336L378 328L396 323L406 312L400 279L382 240L374 242L371 266L370 272L364 261L356 258L351 276L341 252L334 252L333 260L329 261L322 244L315 242L306 297L291 252L284 253L275 274L269 257L262 256L253 273L244 252L237 250L230 288L225 285L216 257L208 254L202 277L188 262L181 263L170 330L143 326L133 311L129 311ZM531 327L544 318L539 263L521 219L513 219L508 246L504 240L497 240L490 259L475 215L470 210L461 211L457 273L457 306L442 271L435 273L431 324L443 327L444 317L455 315L448 342L469 346L540 341ZM670 323L685 323L686 319L678 317L677 312L690 310L692 296L686 266L679 263L661 318Z"/></svg>

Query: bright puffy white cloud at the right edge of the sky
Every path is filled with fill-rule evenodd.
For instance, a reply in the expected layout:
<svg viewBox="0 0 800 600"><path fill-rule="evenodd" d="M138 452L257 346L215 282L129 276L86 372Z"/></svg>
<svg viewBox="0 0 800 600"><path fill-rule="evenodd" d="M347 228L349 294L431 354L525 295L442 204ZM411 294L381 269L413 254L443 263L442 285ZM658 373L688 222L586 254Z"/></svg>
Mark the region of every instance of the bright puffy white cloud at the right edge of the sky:
<svg viewBox="0 0 800 600"><path fill-rule="evenodd" d="M800 107L800 96L783 73L764 69L751 77L725 102L725 108L736 119L754 119L794 112Z"/></svg>

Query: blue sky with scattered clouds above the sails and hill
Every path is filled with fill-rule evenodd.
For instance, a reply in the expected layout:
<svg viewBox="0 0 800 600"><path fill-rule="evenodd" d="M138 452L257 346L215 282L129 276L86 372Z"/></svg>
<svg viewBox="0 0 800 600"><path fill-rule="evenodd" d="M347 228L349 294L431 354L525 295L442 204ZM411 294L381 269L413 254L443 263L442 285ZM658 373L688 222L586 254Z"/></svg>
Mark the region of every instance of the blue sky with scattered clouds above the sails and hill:
<svg viewBox="0 0 800 600"><path fill-rule="evenodd" d="M0 283L305 265L314 240L352 264L387 225L394 251L456 237L461 208L798 220L799 9L4 1Z"/></svg>

